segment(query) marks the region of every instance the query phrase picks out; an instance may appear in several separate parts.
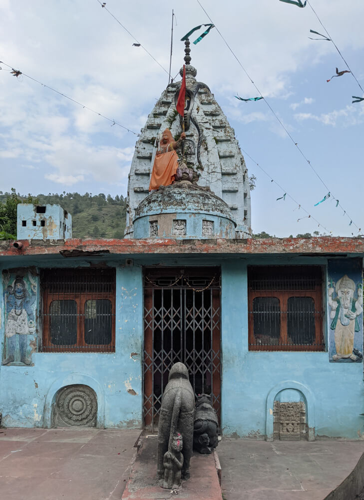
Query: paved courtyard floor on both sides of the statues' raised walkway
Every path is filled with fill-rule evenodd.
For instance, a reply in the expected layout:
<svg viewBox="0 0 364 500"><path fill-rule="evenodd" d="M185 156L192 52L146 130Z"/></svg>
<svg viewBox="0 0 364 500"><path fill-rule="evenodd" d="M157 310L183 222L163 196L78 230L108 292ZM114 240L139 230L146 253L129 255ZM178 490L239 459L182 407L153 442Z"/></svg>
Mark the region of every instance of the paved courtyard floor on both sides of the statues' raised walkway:
<svg viewBox="0 0 364 500"><path fill-rule="evenodd" d="M120 500L139 434L0 429L1 500ZM225 500L323 500L353 470L364 442L224 439L217 451Z"/></svg>

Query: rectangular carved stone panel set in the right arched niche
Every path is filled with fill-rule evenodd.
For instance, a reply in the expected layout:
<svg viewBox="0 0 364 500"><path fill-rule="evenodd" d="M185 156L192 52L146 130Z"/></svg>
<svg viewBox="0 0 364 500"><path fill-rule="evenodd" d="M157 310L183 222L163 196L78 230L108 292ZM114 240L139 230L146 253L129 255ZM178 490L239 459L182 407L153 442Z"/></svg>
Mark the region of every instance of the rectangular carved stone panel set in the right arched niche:
<svg viewBox="0 0 364 500"><path fill-rule="evenodd" d="M274 401L273 437L286 441L307 439L306 405L300 402Z"/></svg>

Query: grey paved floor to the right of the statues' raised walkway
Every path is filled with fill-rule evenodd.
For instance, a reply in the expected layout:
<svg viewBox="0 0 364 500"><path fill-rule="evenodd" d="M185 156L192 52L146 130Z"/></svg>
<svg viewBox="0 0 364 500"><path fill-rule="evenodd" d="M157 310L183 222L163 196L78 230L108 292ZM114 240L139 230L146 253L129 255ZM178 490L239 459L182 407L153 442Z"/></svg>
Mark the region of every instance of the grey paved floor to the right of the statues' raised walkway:
<svg viewBox="0 0 364 500"><path fill-rule="evenodd" d="M225 500L323 500L354 469L364 442L223 439L217 451Z"/></svg>

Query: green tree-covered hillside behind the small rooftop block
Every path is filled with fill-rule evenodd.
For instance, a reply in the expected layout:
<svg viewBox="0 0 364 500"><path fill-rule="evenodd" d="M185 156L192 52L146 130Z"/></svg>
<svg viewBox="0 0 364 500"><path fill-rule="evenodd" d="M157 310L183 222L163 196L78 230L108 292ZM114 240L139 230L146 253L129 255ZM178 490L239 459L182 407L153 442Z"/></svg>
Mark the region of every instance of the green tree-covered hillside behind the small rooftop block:
<svg viewBox="0 0 364 500"><path fill-rule="evenodd" d="M0 203L11 196L0 191ZM17 201L27 201L31 195L17 193ZM58 203L72 215L72 236L74 238L123 238L126 217L126 199L116 195L86 192L48 193L32 196L33 203Z"/></svg>

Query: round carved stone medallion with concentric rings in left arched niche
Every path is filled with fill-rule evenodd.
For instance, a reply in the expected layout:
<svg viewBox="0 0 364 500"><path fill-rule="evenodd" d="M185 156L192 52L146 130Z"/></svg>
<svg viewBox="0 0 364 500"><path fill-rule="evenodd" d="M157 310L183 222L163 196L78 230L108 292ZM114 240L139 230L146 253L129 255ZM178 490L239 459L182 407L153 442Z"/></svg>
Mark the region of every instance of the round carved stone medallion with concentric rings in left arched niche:
<svg viewBox="0 0 364 500"><path fill-rule="evenodd" d="M56 410L58 425L95 425L96 394L87 385L67 385L58 392Z"/></svg>

